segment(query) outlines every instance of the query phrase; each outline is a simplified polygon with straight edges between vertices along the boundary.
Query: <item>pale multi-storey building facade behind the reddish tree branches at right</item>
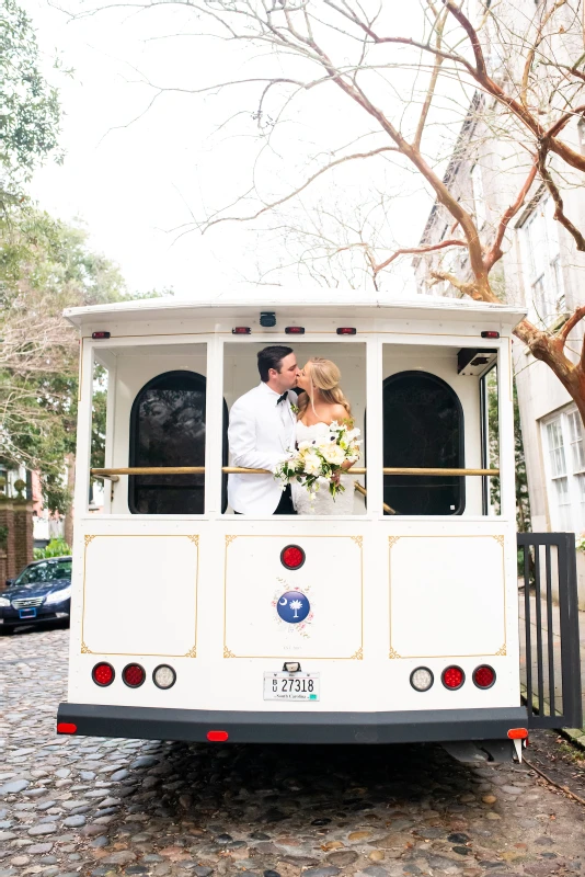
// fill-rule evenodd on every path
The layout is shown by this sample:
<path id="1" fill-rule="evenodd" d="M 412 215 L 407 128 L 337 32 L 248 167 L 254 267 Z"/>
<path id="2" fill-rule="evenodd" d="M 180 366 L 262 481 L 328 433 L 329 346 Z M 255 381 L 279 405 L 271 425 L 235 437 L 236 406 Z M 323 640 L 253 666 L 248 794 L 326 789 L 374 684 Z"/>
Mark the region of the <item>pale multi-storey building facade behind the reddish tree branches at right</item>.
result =
<path id="1" fill-rule="evenodd" d="M 498 4 L 511 16 L 535 14 L 532 0 Z M 509 7 L 509 10 L 508 10 Z M 583 50 L 583 43 L 582 49 Z M 497 64 L 498 53 L 490 57 Z M 495 59 L 495 61 L 494 61 Z M 497 75 L 497 70 L 492 72 Z M 505 73 L 502 75 L 503 77 Z M 474 214 L 482 242 L 490 244 L 500 218 L 514 203 L 529 170 L 530 155 L 519 139 L 492 134 L 485 118 L 502 111 L 477 93 L 456 144 L 445 181 L 461 203 Z M 491 128 L 491 129 L 490 129 Z M 571 122 L 563 138 L 585 153 L 583 121 Z M 560 170 L 559 166 L 552 164 Z M 564 168 L 561 179 L 564 213 L 578 229 L 585 228 L 582 175 Z M 437 243 L 452 235 L 452 218 L 436 204 L 421 246 Z M 576 307 L 585 304 L 585 253 L 554 219 L 554 203 L 540 180 L 535 182 L 525 207 L 514 217 L 504 239 L 504 257 L 490 280 L 493 291 L 508 304 L 524 305 L 528 319 L 554 333 Z M 417 257 L 414 269 L 421 293 L 460 297 L 447 282 L 437 283 L 432 272 L 452 271 L 469 276 L 467 250 L 457 248 Z M 565 354 L 574 362 L 581 355 L 585 324 L 571 332 Z M 535 532 L 585 532 L 585 429 L 577 408 L 552 371 L 535 360 L 527 348 L 514 341 L 514 365 L 523 426 L 524 451 Z M 585 608 L 585 554 L 577 550 L 580 604 Z"/>

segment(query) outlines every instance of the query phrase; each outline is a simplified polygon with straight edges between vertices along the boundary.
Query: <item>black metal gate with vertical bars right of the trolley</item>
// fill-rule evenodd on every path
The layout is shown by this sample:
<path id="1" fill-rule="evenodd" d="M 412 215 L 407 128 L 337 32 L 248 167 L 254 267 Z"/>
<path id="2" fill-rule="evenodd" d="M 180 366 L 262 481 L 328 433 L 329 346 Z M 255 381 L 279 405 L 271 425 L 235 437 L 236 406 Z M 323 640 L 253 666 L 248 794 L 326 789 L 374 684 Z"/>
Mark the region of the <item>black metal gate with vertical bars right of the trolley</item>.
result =
<path id="1" fill-rule="evenodd" d="M 573 533 L 518 533 L 520 681 L 530 728 L 581 728 L 583 705 Z M 524 593 L 523 593 L 524 591 Z"/>

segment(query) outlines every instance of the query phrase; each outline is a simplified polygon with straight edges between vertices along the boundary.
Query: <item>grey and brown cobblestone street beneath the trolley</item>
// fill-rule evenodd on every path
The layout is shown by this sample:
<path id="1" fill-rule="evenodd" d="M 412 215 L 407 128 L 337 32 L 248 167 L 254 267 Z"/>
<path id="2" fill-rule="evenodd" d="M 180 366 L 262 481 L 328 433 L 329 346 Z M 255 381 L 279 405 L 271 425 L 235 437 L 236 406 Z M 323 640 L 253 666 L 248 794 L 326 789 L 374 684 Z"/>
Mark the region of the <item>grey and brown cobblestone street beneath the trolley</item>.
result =
<path id="1" fill-rule="evenodd" d="M 0 638 L 0 877 L 585 873 L 585 808 L 527 765 L 57 738 L 67 645 Z"/>

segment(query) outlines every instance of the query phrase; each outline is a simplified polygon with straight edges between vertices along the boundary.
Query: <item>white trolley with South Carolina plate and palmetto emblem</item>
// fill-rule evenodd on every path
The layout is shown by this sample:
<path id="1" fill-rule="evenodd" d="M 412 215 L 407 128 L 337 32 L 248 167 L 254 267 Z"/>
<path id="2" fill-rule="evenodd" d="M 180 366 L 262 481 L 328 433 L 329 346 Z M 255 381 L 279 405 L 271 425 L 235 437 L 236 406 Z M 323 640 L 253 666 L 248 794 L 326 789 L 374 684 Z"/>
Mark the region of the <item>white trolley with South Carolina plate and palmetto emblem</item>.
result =
<path id="1" fill-rule="evenodd" d="M 262 293 L 66 311 L 81 361 L 58 732 L 441 741 L 460 755 L 481 741 L 473 758 L 512 756 L 539 714 L 536 682 L 527 707 L 519 680 L 511 352 L 524 314 Z M 320 355 L 341 368 L 365 437 L 351 515 L 252 517 L 227 505 L 229 408 L 259 383 L 256 353 L 273 343 L 299 364 Z M 105 460 L 92 468 L 93 395 L 105 385 Z M 105 485 L 103 513 L 89 503 L 92 477 Z M 278 611 L 290 592 L 303 603 L 294 623 Z M 559 680 L 544 673 L 540 640 L 548 704 Z M 554 727 L 578 714 L 569 647 L 563 661 Z"/>

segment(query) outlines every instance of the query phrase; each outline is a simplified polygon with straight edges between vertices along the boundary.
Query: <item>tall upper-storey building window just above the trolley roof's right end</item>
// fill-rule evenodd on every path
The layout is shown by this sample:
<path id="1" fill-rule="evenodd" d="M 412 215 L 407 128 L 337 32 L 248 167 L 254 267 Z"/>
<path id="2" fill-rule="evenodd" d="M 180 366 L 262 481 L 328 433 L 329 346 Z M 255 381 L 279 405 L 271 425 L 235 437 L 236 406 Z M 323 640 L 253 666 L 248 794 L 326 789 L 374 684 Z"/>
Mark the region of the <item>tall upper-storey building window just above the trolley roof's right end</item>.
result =
<path id="1" fill-rule="evenodd" d="M 520 228 L 523 271 L 531 319 L 549 326 L 565 308 L 554 204 L 542 197 Z"/>

